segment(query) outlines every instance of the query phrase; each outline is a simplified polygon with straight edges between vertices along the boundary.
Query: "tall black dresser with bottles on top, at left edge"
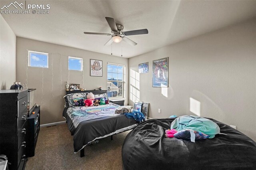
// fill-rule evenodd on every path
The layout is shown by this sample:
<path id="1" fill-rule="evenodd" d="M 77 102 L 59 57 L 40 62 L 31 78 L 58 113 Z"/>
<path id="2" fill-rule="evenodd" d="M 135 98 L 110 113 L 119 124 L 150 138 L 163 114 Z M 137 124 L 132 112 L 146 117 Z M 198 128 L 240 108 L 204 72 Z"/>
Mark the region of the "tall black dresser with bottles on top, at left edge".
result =
<path id="1" fill-rule="evenodd" d="M 25 169 L 28 90 L 0 90 L 0 154 L 9 170 Z"/>

